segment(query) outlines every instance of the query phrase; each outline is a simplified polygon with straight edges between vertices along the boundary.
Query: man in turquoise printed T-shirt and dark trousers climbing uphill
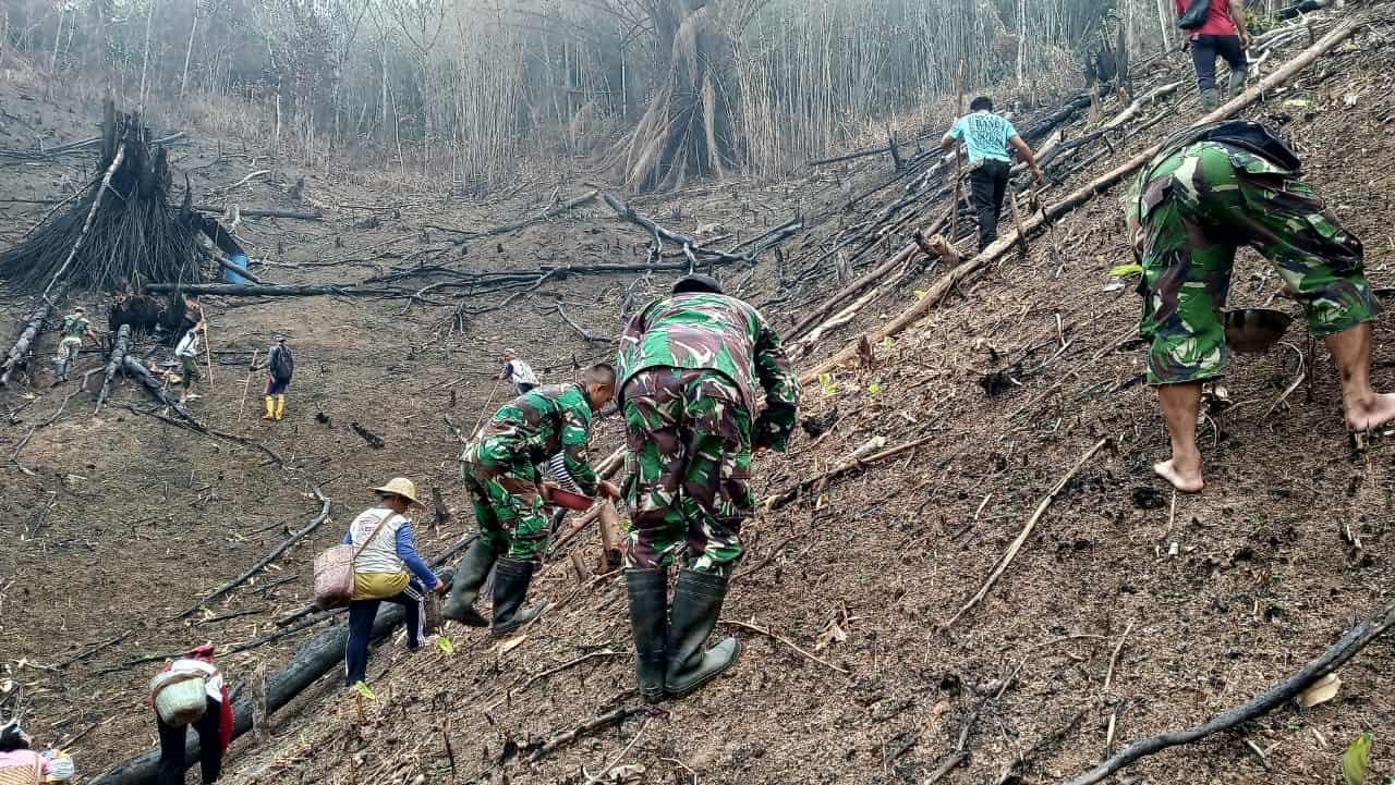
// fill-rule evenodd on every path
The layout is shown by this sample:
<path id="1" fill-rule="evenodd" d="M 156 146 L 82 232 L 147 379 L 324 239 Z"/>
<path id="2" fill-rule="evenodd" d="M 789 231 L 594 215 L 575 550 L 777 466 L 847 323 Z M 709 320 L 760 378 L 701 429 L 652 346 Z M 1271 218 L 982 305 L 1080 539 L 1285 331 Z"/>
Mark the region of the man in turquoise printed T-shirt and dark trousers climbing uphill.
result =
<path id="1" fill-rule="evenodd" d="M 981 95 L 970 103 L 970 110 L 954 121 L 940 146 L 951 151 L 963 141 L 968 148 L 968 187 L 978 212 L 978 250 L 982 251 L 997 240 L 997 216 L 1003 211 L 1007 176 L 1013 169 L 1007 146 L 1011 145 L 1017 156 L 1027 162 L 1036 183 L 1042 181 L 1042 170 L 1036 166 L 1032 148 L 1017 135 L 1017 128 L 1006 117 L 993 114 L 993 99 Z"/>

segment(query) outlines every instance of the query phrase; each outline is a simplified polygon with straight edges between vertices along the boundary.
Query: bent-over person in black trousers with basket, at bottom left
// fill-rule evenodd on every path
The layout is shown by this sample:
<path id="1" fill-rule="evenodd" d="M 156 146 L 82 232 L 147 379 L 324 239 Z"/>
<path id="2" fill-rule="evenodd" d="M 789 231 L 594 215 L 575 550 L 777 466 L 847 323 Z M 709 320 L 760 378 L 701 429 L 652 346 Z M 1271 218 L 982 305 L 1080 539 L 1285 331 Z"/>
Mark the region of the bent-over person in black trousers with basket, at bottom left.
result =
<path id="1" fill-rule="evenodd" d="M 152 687 L 158 690 L 162 682 L 183 679 L 193 679 L 202 685 L 205 703 L 195 719 L 187 724 L 176 724 L 167 721 L 160 714 L 160 701 L 155 699 L 152 692 L 155 725 L 160 739 L 160 763 L 156 784 L 183 785 L 184 742 L 188 736 L 188 729 L 193 728 L 198 733 L 198 764 L 204 777 L 204 785 L 209 785 L 211 782 L 216 782 L 222 774 L 223 756 L 227 753 L 227 745 L 233 740 L 233 704 L 227 697 L 227 683 L 223 679 L 223 673 L 213 664 L 212 646 L 191 648 L 179 660 L 167 662 L 160 675 L 152 682 Z"/>

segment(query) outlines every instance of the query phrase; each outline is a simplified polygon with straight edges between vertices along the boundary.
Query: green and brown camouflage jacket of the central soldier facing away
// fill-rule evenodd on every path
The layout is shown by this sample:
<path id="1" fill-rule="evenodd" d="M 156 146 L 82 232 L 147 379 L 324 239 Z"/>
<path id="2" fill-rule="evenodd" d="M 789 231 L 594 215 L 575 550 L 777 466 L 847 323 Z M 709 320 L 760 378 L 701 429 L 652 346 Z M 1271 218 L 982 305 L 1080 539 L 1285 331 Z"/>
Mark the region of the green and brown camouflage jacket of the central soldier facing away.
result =
<path id="1" fill-rule="evenodd" d="M 636 314 L 619 339 L 621 397 L 631 376 L 658 367 L 717 371 L 735 382 L 752 413 L 759 385 L 766 410 L 756 418 L 752 439 L 776 450 L 788 443 L 799 376 L 790 369 L 780 336 L 746 303 L 724 294 L 675 294 Z"/>

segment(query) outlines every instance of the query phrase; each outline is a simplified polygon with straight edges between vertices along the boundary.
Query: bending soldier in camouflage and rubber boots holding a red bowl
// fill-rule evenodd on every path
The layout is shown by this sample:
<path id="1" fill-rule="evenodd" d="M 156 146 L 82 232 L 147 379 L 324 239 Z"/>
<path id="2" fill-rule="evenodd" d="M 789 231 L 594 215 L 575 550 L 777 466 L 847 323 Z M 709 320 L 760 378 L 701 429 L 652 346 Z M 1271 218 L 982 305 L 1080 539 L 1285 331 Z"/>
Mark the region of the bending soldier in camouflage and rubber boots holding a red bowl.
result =
<path id="1" fill-rule="evenodd" d="M 516 630 L 545 608 L 520 609 L 548 533 L 543 502 L 550 488 L 543 484 L 538 466 L 561 453 L 582 494 L 590 496 L 600 489 L 618 498 L 619 489 L 600 481 L 586 460 L 591 418 L 614 395 L 615 369 L 594 365 L 579 383 L 534 388 L 504 404 L 466 445 L 460 453 L 460 478 L 470 491 L 480 535 L 456 565 L 442 616 L 485 626 L 472 604 L 495 563 L 495 634 Z"/>

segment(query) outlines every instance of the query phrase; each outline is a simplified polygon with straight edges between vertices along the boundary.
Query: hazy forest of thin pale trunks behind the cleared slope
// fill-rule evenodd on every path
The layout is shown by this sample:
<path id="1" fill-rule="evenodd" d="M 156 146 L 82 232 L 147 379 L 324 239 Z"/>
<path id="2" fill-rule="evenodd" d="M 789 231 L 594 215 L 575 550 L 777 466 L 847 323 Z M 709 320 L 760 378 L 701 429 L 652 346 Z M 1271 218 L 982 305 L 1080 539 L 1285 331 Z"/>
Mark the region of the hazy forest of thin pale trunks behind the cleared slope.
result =
<path id="1" fill-rule="evenodd" d="M 1048 100 L 1106 40 L 1176 45 L 1170 4 L 0 0 L 0 68 L 326 170 L 478 192 L 561 160 L 654 188 L 904 139 L 960 74 Z"/>

